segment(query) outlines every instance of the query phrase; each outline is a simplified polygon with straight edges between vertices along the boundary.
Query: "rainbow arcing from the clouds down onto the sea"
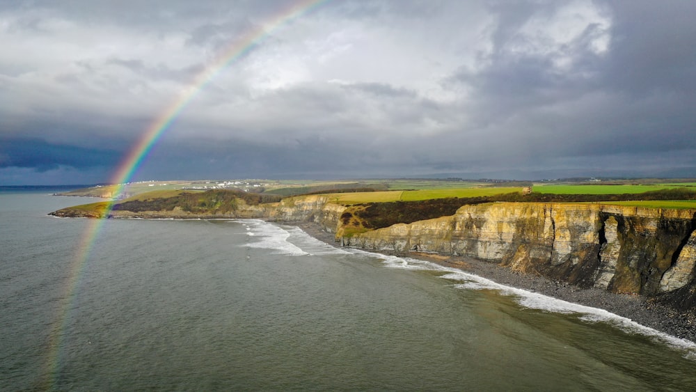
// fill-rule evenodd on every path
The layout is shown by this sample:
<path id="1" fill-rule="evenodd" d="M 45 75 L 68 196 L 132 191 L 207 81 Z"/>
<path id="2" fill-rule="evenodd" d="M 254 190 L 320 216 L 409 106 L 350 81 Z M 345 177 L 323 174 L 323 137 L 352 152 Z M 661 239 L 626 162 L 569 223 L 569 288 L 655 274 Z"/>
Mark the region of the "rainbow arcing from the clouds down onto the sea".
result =
<path id="1" fill-rule="evenodd" d="M 157 143 L 166 130 L 171 127 L 182 111 L 191 103 L 193 98 L 195 98 L 212 79 L 225 70 L 228 65 L 242 58 L 255 47 L 258 47 L 265 38 L 280 27 L 292 22 L 294 19 L 307 15 L 311 11 L 319 8 L 319 6 L 329 3 L 330 1 L 331 0 L 296 1 L 279 13 L 276 13 L 276 16 L 269 18 L 266 23 L 256 29 L 248 31 L 242 38 L 233 42 L 232 45 L 223 51 L 221 55 L 216 57 L 205 70 L 193 78 L 189 87 L 185 88 L 177 99 L 173 100 L 169 107 L 167 107 L 167 109 L 143 132 L 139 141 L 136 142 L 134 147 L 122 160 L 111 178 L 111 183 L 116 184 L 115 191 L 113 192 L 113 200 L 106 204 L 106 208 L 102 214 L 103 218 L 90 219 L 77 246 L 75 256 L 70 263 L 70 273 L 68 274 L 68 281 L 65 284 L 65 294 L 62 296 L 63 302 L 58 306 L 56 322 L 49 336 L 45 389 L 54 388 L 58 381 L 58 375 L 61 370 L 61 359 L 65 354 L 63 352 L 63 350 L 65 350 L 65 347 L 63 347 L 64 338 L 68 334 L 67 329 L 71 318 L 70 313 L 72 309 L 77 306 L 81 277 L 84 274 L 87 260 L 104 226 L 106 217 L 109 216 L 109 213 L 113 209 L 113 205 L 116 203 L 116 196 L 122 193 L 127 182 L 129 182 L 134 173 L 143 164 L 150 150 L 155 146 L 155 143 Z"/>

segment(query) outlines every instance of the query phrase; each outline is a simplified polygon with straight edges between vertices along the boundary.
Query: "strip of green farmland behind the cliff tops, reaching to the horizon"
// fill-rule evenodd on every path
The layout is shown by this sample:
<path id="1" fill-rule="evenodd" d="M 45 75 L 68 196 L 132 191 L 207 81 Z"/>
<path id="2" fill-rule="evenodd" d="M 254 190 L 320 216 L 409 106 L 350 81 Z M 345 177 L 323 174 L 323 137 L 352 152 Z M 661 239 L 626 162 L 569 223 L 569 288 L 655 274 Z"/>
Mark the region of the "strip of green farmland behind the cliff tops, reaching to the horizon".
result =
<path id="1" fill-rule="evenodd" d="M 688 181 L 688 182 L 687 182 Z M 345 205 L 365 203 L 415 202 L 443 198 L 485 198 L 488 201 L 593 202 L 635 205 L 655 208 L 694 208 L 696 201 L 688 200 L 696 192 L 696 182 L 667 180 L 624 180 L 600 182 L 537 182 L 531 195 L 523 196 L 524 182 L 466 181 L 458 179 L 383 179 L 383 180 L 237 180 L 229 182 L 249 185 L 248 191 L 280 197 L 301 194 L 328 194 L 331 201 Z M 224 183 L 225 188 L 228 183 Z M 131 199 L 145 201 L 177 196 L 182 189 L 203 191 L 220 189 L 217 181 L 136 182 L 125 187 Z M 236 185 L 235 185 L 236 186 Z M 115 185 L 68 192 L 76 196 L 96 196 L 102 192 L 111 196 Z M 239 186 L 237 189 L 242 189 Z M 370 191 L 372 190 L 372 191 Z M 644 193 L 648 192 L 648 193 Z M 656 195 L 655 193 L 659 193 Z M 500 196 L 505 195 L 507 196 Z M 673 196 L 672 196 L 673 195 Z M 122 195 L 123 196 L 123 195 Z M 606 196 L 606 198 L 604 197 Z M 685 200 L 686 199 L 686 200 Z M 478 201 L 480 202 L 480 200 Z"/>

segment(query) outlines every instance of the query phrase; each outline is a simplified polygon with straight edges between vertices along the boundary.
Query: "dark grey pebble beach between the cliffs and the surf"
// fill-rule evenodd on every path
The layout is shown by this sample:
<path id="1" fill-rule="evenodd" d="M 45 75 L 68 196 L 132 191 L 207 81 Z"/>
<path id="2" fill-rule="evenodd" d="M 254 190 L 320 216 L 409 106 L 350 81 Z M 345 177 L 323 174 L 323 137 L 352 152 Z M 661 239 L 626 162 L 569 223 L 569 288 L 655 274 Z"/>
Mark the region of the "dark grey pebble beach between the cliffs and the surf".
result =
<path id="1" fill-rule="evenodd" d="M 331 246 L 338 246 L 333 233 L 328 233 L 313 222 L 291 224 L 308 235 Z M 490 279 L 513 288 L 537 292 L 555 299 L 599 308 L 615 315 L 626 317 L 644 327 L 696 343 L 696 312 L 677 311 L 656 301 L 639 295 L 615 294 L 599 288 L 580 288 L 562 281 L 553 281 L 543 276 L 521 274 L 493 262 L 461 256 L 441 256 L 416 252 L 372 251 L 389 256 L 425 260 L 445 267 Z"/>

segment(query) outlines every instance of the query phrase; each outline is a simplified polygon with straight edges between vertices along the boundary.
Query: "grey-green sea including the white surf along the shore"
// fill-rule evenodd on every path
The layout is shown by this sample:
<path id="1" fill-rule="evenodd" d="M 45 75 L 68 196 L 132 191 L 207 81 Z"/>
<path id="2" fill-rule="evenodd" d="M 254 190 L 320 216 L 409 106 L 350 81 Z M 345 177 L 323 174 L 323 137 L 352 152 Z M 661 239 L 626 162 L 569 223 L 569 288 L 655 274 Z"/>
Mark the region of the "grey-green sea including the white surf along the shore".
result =
<path id="1" fill-rule="evenodd" d="M 93 201 L 0 192 L 1 391 L 696 389 L 686 340 L 294 226 L 114 219 L 75 267 L 47 213 Z"/>

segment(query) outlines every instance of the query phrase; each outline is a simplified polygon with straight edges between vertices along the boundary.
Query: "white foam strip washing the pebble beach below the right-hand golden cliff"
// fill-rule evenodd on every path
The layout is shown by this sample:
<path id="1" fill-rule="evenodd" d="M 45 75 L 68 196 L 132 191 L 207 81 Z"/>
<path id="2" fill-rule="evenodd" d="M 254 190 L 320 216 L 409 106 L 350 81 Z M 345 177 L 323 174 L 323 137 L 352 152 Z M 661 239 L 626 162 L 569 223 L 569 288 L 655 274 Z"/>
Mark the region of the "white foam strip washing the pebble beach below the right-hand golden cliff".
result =
<path id="1" fill-rule="evenodd" d="M 460 269 L 445 267 L 442 265 L 428 262 L 425 260 L 416 260 L 412 258 L 400 258 L 397 256 L 385 256 L 380 253 L 371 253 L 355 250 L 355 253 L 363 253 L 376 258 L 381 258 L 386 267 L 416 269 L 428 271 L 440 271 L 445 274 L 440 277 L 451 281 L 459 281 L 454 285 L 455 288 L 466 290 L 497 290 L 502 295 L 510 295 L 514 300 L 525 308 L 539 309 L 554 313 L 577 314 L 580 320 L 586 322 L 605 322 L 622 331 L 632 334 L 642 334 L 658 340 L 659 342 L 674 347 L 677 350 L 684 352 L 684 356 L 688 359 L 696 361 L 696 343 L 680 339 L 675 336 L 664 334 L 656 329 L 645 327 L 631 319 L 610 313 L 600 308 L 592 308 L 572 302 L 563 301 L 549 297 L 548 295 L 539 294 L 538 292 L 530 292 L 519 288 L 502 285 L 474 274 L 468 274 Z"/>

